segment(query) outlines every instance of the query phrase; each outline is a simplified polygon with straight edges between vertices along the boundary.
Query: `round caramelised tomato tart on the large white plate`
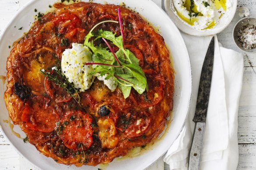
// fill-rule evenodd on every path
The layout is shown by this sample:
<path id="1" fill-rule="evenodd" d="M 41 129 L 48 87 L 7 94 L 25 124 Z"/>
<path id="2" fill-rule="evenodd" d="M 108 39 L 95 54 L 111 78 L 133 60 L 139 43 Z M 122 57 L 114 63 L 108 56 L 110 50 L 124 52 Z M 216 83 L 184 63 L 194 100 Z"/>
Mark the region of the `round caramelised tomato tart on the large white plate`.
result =
<path id="1" fill-rule="evenodd" d="M 78 167 L 109 163 L 156 139 L 173 108 L 174 72 L 164 38 L 139 14 L 124 7 L 85 2 L 54 6 L 55 11 L 35 21 L 14 44 L 8 57 L 4 99 L 14 124 L 39 152 L 57 163 Z M 83 44 L 99 22 L 118 21 L 117 8 L 124 48 L 138 59 L 148 89 L 142 94 L 131 89 L 124 97 L 120 88 L 110 90 L 96 79 L 83 92 L 72 92 L 68 83 L 56 83 L 63 75 L 55 75 L 52 68 L 60 63 L 64 50 L 71 49 L 72 43 Z M 119 23 L 100 24 L 93 32 L 100 29 L 121 36 Z M 101 39 L 94 43 L 107 48 Z M 40 70 L 58 80 L 54 82 Z"/>

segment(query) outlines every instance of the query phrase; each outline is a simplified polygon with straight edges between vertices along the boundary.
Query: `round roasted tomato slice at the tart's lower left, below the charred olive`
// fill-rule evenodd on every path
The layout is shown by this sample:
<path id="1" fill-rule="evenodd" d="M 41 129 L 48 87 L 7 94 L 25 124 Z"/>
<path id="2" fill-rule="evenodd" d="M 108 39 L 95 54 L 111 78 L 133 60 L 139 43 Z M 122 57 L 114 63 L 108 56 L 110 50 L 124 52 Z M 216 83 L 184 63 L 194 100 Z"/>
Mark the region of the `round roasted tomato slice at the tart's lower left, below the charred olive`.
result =
<path id="1" fill-rule="evenodd" d="M 36 96 L 25 104 L 21 120 L 28 128 L 39 132 L 52 132 L 59 121 L 59 114 L 49 106 L 50 99 L 43 96 Z"/>

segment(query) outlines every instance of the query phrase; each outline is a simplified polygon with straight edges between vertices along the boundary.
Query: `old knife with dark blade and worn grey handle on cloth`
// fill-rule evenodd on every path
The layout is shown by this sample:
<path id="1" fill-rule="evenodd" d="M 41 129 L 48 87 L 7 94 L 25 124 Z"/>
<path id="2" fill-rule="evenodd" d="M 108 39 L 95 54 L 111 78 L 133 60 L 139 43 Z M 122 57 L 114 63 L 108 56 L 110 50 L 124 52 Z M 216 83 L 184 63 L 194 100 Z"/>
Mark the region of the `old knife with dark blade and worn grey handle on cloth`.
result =
<path id="1" fill-rule="evenodd" d="M 188 157 L 188 170 L 199 170 L 206 114 L 210 97 L 213 73 L 214 37 L 212 38 L 203 62 L 193 121 L 196 123 Z"/>

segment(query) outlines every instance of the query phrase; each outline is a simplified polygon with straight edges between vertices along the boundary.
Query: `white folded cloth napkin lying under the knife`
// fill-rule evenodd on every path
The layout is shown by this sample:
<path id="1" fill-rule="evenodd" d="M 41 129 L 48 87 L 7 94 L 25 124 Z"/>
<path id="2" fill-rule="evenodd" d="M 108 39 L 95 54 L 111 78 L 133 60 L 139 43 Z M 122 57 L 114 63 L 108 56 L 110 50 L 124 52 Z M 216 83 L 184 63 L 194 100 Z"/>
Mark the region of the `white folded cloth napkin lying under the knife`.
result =
<path id="1" fill-rule="evenodd" d="M 195 123 L 192 121 L 203 61 L 212 36 L 182 33 L 192 67 L 192 101 L 180 135 L 164 156 L 171 170 L 187 170 Z M 238 164 L 238 102 L 242 90 L 243 56 L 219 45 L 215 36 L 213 77 L 200 170 L 235 170 Z"/>

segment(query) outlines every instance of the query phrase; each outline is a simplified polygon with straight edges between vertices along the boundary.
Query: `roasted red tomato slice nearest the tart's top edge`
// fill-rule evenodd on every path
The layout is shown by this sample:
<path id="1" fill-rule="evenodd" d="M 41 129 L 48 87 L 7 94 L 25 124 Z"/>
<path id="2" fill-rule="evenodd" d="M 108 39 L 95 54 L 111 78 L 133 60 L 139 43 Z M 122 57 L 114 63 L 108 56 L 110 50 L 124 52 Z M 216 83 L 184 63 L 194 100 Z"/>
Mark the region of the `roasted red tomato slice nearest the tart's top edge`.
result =
<path id="1" fill-rule="evenodd" d="M 58 27 L 59 33 L 64 34 L 80 26 L 82 21 L 75 14 L 67 12 L 53 18 L 52 22 Z"/>

